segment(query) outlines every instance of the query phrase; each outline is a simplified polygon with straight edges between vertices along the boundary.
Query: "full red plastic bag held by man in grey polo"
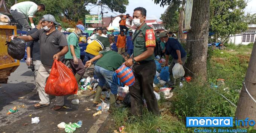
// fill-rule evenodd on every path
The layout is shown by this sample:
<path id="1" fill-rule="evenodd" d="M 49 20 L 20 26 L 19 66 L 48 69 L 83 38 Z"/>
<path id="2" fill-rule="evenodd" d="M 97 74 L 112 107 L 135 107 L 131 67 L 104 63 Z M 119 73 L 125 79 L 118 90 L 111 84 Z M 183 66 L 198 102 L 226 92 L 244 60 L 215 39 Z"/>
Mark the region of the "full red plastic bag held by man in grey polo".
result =
<path id="1" fill-rule="evenodd" d="M 46 94 L 53 96 L 77 94 L 78 83 L 74 74 L 65 64 L 54 60 L 44 90 Z"/>

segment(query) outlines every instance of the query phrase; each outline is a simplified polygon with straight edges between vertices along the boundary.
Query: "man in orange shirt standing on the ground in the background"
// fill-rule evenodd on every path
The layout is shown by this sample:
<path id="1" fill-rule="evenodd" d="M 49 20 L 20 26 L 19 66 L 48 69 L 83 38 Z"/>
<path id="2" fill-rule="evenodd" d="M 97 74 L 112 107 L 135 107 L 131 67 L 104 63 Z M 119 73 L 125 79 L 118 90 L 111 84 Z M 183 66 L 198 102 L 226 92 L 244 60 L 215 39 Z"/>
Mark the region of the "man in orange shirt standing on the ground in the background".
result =
<path id="1" fill-rule="evenodd" d="M 120 30 L 120 34 L 117 37 L 116 47 L 118 54 L 125 52 L 126 36 L 124 35 L 124 32 L 124 30 Z"/>

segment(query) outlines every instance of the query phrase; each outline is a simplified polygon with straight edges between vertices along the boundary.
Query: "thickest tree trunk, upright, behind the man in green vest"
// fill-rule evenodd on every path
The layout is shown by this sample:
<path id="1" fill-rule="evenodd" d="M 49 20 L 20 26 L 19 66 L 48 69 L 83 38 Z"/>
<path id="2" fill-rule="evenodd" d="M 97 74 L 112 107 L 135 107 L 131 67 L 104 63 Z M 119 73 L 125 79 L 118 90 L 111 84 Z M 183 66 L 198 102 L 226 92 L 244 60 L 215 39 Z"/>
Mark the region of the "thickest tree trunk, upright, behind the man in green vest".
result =
<path id="1" fill-rule="evenodd" d="M 206 80 L 207 43 L 209 35 L 209 0 L 194 0 L 191 18 L 191 29 L 187 33 L 186 67 Z M 186 69 L 185 69 L 186 70 Z M 187 71 L 187 75 L 194 76 Z"/>

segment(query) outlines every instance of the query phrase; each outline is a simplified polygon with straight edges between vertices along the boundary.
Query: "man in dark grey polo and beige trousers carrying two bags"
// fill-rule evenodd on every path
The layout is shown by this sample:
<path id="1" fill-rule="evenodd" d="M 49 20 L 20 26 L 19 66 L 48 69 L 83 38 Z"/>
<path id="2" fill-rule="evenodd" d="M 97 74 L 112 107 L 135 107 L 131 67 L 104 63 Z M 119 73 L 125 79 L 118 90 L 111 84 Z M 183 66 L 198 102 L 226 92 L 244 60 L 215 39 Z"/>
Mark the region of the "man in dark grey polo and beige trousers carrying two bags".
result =
<path id="1" fill-rule="evenodd" d="M 53 61 L 64 61 L 63 55 L 69 51 L 66 36 L 55 28 L 55 25 L 58 25 L 59 23 L 55 21 L 54 16 L 50 14 L 44 15 L 42 21 L 43 29 L 30 34 L 29 36 L 14 36 L 24 39 L 26 42 L 40 40 L 40 58 L 42 64 L 38 69 L 36 78 L 40 102 L 34 105 L 35 108 L 42 108 L 50 105 L 49 95 L 44 91 L 47 78 L 50 75 Z M 57 111 L 61 109 L 63 105 L 64 96 L 56 96 L 56 105 L 53 106 L 52 110 Z"/>

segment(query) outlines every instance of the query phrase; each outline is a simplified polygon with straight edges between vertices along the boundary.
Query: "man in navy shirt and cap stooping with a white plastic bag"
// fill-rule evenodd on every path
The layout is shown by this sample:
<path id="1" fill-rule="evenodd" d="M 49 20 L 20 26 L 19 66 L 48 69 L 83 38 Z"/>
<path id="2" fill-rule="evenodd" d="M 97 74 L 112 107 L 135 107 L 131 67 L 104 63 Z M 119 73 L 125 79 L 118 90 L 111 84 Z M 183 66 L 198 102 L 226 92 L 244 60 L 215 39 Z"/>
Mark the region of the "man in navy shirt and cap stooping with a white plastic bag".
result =
<path id="1" fill-rule="evenodd" d="M 175 38 L 169 38 L 166 32 L 162 32 L 159 34 L 159 38 L 161 42 L 166 43 L 165 46 L 165 63 L 168 66 L 169 63 L 169 55 L 173 57 L 172 62 L 170 63 L 169 72 L 170 72 L 170 79 L 172 83 L 175 82 L 175 86 L 180 86 L 180 78 L 174 79 L 172 76 L 172 68 L 174 67 L 175 63 L 180 63 L 182 66 L 185 64 L 187 60 L 187 53 L 185 49 L 181 46 L 180 42 L 178 42 Z"/>

